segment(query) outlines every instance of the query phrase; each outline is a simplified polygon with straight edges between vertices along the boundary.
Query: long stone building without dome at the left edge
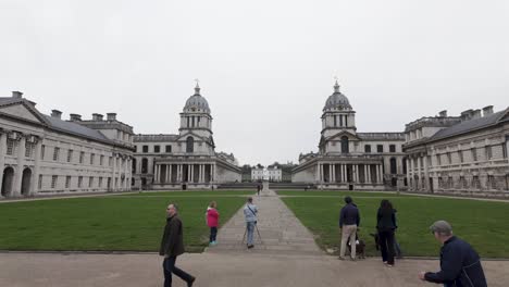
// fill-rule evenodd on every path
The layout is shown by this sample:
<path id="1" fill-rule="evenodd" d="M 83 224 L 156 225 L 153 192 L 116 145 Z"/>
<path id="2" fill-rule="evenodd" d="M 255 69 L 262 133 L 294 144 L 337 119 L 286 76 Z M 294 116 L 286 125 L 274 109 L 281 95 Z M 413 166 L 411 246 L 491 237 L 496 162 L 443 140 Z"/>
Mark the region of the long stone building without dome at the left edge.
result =
<path id="1" fill-rule="evenodd" d="M 133 127 L 115 113 L 61 117 L 18 91 L 0 98 L 1 197 L 129 190 Z"/>

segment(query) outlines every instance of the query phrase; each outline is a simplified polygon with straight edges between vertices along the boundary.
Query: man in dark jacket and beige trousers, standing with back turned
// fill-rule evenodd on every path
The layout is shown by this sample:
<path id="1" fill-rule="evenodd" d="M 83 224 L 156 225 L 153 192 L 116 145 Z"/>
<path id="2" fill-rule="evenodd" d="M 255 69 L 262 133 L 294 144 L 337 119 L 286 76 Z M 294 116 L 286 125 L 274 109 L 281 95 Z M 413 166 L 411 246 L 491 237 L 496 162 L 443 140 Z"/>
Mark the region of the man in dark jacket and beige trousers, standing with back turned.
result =
<path id="1" fill-rule="evenodd" d="M 345 207 L 339 213 L 339 228 L 342 229 L 342 247 L 339 249 L 339 259 L 345 260 L 347 240 L 350 240 L 350 258 L 356 260 L 356 235 L 360 224 L 359 209 L 353 204 L 350 197 L 345 197 Z"/>

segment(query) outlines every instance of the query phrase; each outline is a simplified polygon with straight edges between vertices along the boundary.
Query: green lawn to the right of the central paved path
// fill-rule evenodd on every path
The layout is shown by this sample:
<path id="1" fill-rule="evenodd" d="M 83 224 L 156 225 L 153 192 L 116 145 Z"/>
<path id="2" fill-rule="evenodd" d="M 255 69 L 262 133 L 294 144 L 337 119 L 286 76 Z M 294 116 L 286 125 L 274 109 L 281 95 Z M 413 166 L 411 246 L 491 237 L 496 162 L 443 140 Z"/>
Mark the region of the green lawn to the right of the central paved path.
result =
<path id="1" fill-rule="evenodd" d="M 377 254 L 370 233 L 375 230 L 382 198 L 397 209 L 396 237 L 406 255 L 438 255 L 440 244 L 429 230 L 436 220 L 451 223 L 454 232 L 469 241 L 482 257 L 509 258 L 509 203 L 479 200 L 398 196 L 363 191 L 281 191 L 283 201 L 316 235 L 322 248 L 338 248 L 338 216 L 343 198 L 350 195 L 361 212 L 360 237 L 367 254 Z M 294 197 L 291 197 L 294 196 Z M 298 196 L 298 197 L 297 197 Z"/>

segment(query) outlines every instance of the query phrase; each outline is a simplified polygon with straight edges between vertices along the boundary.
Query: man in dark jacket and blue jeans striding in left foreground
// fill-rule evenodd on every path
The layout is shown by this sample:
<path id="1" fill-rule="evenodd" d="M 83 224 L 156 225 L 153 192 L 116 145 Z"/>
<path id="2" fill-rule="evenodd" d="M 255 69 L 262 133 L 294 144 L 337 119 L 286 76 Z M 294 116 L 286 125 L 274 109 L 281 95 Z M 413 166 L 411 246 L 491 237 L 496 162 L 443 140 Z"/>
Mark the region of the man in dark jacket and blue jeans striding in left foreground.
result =
<path id="1" fill-rule="evenodd" d="M 164 287 L 172 286 L 172 273 L 187 282 L 187 286 L 193 286 L 195 277 L 175 266 L 176 258 L 184 253 L 184 236 L 182 221 L 178 217 L 178 208 L 171 203 L 166 208 L 166 226 L 164 227 L 163 238 L 159 254 L 164 257 Z"/>

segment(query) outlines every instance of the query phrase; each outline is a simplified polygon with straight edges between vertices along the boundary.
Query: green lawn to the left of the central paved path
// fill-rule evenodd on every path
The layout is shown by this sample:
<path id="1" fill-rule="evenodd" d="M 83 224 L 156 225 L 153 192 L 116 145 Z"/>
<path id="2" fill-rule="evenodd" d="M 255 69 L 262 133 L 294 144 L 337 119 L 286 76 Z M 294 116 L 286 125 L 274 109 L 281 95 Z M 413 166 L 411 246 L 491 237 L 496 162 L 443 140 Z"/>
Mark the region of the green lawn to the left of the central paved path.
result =
<path id="1" fill-rule="evenodd" d="M 252 192 L 144 192 L 0 204 L 0 250 L 157 251 L 169 202 L 179 207 L 187 251 L 208 244 L 204 212 L 218 202 L 225 223 Z M 238 195 L 234 197 L 233 195 Z"/>

